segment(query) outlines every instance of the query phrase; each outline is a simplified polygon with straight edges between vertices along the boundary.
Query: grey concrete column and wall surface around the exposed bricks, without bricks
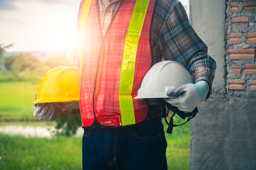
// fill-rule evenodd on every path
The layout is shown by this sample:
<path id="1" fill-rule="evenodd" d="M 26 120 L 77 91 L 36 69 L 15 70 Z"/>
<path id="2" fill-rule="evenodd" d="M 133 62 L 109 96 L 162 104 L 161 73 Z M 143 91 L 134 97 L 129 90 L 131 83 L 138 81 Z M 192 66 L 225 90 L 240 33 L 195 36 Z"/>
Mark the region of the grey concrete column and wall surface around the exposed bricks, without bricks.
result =
<path id="1" fill-rule="evenodd" d="M 227 11 L 226 3 L 229 4 Z M 242 11 L 240 6 L 242 2 L 239 3 L 238 10 Z M 226 18 L 225 13 L 229 11 L 230 1 L 190 1 L 191 25 L 208 45 L 209 55 L 217 62 L 213 82 L 213 89 L 216 93 L 198 106 L 199 113 L 191 120 L 191 170 L 256 169 L 256 98 L 252 95 L 255 93 L 242 92 L 245 95 L 240 96 L 238 92 L 241 91 L 236 91 L 235 94 L 239 95 L 225 94 L 225 79 L 228 78 L 226 75 L 228 61 L 225 58 L 228 52 L 225 52 L 227 45 L 224 40 L 225 30 L 228 30 L 228 24 L 232 20 L 232 17 Z M 236 14 L 232 15 L 236 16 Z M 256 15 L 255 13 L 250 13 L 250 15 L 250 23 L 255 26 Z M 252 15 L 255 16 L 252 17 Z M 247 47 L 248 45 L 240 46 Z M 235 60 L 235 63 L 237 62 Z M 255 60 L 249 62 L 251 64 Z M 252 79 L 255 79 L 255 74 L 252 74 Z"/>

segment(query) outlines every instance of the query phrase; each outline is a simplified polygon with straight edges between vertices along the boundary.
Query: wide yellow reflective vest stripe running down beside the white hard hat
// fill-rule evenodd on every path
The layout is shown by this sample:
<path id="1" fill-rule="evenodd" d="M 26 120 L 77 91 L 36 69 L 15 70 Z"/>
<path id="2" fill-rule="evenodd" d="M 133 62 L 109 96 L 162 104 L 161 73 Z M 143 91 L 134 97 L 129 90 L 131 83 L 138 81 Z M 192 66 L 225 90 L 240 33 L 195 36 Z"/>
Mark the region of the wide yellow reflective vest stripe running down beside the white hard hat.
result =
<path id="1" fill-rule="evenodd" d="M 134 68 L 139 37 L 142 33 L 142 26 L 148 6 L 149 0 L 136 1 L 127 31 L 127 37 L 125 38 L 119 85 L 119 104 L 123 126 L 135 124 L 134 106 L 132 101 Z"/>

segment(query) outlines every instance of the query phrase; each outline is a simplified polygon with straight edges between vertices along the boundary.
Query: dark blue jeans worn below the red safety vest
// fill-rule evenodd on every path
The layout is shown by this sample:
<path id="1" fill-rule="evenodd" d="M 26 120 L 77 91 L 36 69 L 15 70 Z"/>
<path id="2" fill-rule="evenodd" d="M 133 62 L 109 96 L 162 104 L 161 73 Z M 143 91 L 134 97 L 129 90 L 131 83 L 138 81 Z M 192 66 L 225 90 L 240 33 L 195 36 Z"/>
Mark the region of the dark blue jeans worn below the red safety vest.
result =
<path id="1" fill-rule="evenodd" d="M 167 169 L 161 118 L 129 128 L 85 128 L 82 169 Z"/>

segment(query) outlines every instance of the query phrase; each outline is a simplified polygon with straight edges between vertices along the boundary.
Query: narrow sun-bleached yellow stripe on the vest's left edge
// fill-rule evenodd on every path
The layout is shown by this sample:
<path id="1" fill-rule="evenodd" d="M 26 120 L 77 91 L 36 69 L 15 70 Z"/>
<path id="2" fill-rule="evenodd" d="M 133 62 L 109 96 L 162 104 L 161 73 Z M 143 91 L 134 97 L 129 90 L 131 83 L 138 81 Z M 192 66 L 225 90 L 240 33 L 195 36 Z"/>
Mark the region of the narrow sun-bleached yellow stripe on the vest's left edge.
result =
<path id="1" fill-rule="evenodd" d="M 80 74 L 82 73 L 82 51 L 83 51 L 83 45 L 85 44 L 85 24 L 87 21 L 90 4 L 92 3 L 92 0 L 85 1 L 85 4 L 82 8 L 82 16 L 80 21 Z"/>

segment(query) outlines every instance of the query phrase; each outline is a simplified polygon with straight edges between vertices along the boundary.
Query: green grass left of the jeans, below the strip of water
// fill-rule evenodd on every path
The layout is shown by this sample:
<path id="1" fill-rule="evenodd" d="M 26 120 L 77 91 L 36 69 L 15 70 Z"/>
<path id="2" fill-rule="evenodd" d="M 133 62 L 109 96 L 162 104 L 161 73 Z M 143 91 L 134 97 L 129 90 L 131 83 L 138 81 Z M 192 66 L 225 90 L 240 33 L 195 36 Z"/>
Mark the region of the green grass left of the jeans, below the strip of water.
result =
<path id="1" fill-rule="evenodd" d="M 0 169 L 82 169 L 82 137 L 0 134 Z"/>

